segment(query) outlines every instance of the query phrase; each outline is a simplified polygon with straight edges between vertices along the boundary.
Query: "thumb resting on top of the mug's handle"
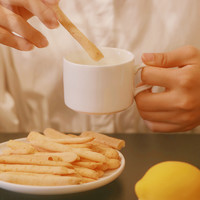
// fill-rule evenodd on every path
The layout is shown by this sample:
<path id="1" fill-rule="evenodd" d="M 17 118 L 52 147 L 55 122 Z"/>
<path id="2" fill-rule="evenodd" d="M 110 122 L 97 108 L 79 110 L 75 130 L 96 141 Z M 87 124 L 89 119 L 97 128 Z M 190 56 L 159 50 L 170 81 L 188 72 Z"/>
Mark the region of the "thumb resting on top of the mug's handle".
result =
<path id="1" fill-rule="evenodd" d="M 200 58 L 200 52 L 193 46 L 184 46 L 170 52 L 144 53 L 142 61 L 156 67 L 177 67 L 194 64 Z"/>

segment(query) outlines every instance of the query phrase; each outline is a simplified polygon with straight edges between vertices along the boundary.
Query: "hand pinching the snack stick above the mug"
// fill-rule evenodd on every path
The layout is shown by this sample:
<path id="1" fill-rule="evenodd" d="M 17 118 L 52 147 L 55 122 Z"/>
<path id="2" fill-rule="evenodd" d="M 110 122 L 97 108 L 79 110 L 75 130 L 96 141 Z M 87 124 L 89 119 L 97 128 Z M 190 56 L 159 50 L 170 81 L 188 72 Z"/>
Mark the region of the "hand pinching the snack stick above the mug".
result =
<path id="1" fill-rule="evenodd" d="M 45 36 L 27 20 L 37 16 L 48 28 L 56 28 L 56 14 L 49 6 L 57 3 L 58 0 L 0 0 L 0 43 L 22 51 L 46 47 Z"/>

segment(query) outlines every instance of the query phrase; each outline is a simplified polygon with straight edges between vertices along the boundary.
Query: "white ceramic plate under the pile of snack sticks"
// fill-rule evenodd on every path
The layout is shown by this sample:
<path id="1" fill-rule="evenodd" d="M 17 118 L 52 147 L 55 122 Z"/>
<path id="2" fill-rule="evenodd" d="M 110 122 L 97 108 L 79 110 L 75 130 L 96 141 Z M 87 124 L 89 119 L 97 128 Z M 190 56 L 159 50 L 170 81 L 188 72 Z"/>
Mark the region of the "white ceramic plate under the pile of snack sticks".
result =
<path id="1" fill-rule="evenodd" d="M 24 141 L 24 138 L 19 140 Z M 6 142 L 0 144 L 0 154 L 3 149 L 6 148 Z M 4 181 L 0 181 L 0 188 L 25 193 L 25 194 L 70 194 L 70 193 L 78 193 L 83 191 L 92 190 L 95 188 L 99 188 L 104 186 L 112 181 L 114 181 L 123 171 L 125 166 L 124 156 L 119 152 L 121 157 L 121 166 L 115 170 L 109 170 L 104 173 L 104 176 L 98 179 L 97 181 L 91 183 L 84 183 L 81 185 L 67 185 L 67 186 L 28 186 L 28 185 L 19 185 L 14 183 L 8 183 Z"/>

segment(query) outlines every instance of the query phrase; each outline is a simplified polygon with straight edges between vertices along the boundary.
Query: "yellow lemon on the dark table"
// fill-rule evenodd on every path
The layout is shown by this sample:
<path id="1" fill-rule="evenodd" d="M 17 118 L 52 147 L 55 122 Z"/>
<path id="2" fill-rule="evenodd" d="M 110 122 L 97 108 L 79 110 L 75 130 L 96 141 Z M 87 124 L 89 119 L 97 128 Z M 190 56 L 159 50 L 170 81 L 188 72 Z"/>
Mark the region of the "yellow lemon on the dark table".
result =
<path id="1" fill-rule="evenodd" d="M 151 167 L 135 185 L 139 200 L 200 200 L 200 170 L 166 161 Z"/>

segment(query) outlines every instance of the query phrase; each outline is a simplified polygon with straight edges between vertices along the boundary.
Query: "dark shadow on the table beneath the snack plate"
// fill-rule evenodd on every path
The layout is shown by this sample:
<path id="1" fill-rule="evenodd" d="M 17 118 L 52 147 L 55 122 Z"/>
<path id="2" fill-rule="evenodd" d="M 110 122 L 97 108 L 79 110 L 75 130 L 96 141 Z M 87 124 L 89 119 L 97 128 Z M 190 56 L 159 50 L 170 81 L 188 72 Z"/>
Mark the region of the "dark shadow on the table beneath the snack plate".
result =
<path id="1" fill-rule="evenodd" d="M 123 199 L 122 188 L 120 180 L 115 180 L 112 183 L 91 191 L 64 194 L 64 195 L 31 195 L 10 192 L 0 189 L 0 200 L 117 200 Z"/>

